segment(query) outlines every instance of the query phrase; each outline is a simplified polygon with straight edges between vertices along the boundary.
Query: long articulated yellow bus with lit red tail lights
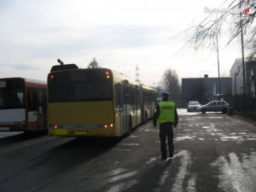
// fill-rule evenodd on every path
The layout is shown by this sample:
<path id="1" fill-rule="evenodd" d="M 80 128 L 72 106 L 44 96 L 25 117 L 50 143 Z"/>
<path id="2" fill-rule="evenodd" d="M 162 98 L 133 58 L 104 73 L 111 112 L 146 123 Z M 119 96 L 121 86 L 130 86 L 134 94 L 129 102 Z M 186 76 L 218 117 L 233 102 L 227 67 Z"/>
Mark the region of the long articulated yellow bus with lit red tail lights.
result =
<path id="1" fill-rule="evenodd" d="M 120 137 L 153 116 L 155 90 L 108 68 L 54 66 L 48 75 L 49 136 Z"/>

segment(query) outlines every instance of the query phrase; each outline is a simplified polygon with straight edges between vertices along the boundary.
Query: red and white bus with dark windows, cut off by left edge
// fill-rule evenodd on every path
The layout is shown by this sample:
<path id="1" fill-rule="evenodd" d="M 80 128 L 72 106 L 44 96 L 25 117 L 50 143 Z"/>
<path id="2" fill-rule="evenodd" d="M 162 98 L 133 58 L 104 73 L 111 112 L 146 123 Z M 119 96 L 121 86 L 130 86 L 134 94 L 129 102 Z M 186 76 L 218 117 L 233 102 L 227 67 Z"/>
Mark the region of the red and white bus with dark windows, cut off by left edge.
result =
<path id="1" fill-rule="evenodd" d="M 0 131 L 47 129 L 46 88 L 34 79 L 0 79 Z"/>

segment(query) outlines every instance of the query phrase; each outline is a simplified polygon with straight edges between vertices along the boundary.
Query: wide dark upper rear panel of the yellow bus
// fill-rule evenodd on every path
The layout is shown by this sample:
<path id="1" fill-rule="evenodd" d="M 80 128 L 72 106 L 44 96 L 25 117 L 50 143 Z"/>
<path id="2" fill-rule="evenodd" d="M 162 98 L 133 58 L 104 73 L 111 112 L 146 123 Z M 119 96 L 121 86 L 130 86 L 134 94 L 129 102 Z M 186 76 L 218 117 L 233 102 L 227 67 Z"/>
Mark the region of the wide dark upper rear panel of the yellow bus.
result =
<path id="1" fill-rule="evenodd" d="M 112 100 L 112 78 L 110 77 L 107 78 L 106 69 L 50 73 L 49 102 Z"/>

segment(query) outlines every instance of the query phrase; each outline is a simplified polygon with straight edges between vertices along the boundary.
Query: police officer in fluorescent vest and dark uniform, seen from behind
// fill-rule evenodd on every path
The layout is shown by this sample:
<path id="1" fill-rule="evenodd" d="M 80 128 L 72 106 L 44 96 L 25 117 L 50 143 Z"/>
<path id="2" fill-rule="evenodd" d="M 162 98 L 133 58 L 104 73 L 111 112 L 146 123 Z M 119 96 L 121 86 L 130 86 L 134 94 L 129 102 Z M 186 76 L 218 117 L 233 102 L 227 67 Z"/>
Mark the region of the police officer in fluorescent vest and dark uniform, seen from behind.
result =
<path id="1" fill-rule="evenodd" d="M 177 109 L 174 102 L 168 101 L 170 93 L 163 92 L 161 94 L 162 101 L 156 106 L 156 112 L 154 113 L 153 124 L 156 127 L 156 123 L 160 124 L 160 143 L 161 143 L 161 158 L 166 160 L 166 137 L 168 138 L 169 157 L 173 157 L 173 130 L 172 127 L 176 127 L 178 123 Z"/>

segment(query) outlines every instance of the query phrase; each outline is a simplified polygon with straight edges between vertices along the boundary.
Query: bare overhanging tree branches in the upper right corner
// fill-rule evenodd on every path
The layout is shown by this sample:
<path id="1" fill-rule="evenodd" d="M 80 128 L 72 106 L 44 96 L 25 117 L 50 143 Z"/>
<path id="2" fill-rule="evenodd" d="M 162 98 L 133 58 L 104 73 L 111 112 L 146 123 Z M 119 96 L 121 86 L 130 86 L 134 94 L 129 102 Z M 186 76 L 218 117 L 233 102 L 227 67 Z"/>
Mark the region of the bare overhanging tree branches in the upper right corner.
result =
<path id="1" fill-rule="evenodd" d="M 228 3 L 228 5 L 227 5 Z M 224 8 L 224 6 L 227 6 Z M 225 0 L 218 9 L 207 9 L 207 17 L 198 25 L 187 29 L 183 34 L 189 35 L 186 46 L 192 46 L 194 49 L 204 47 L 214 47 L 215 40 L 223 33 L 230 32 L 230 38 L 227 41 L 229 45 L 235 38 L 241 34 L 241 30 L 246 35 L 245 48 L 249 55 L 256 54 L 256 26 L 253 23 L 256 14 L 256 2 L 254 0 Z M 212 17 L 216 16 L 214 20 Z M 228 24 L 227 27 L 225 24 Z"/>

